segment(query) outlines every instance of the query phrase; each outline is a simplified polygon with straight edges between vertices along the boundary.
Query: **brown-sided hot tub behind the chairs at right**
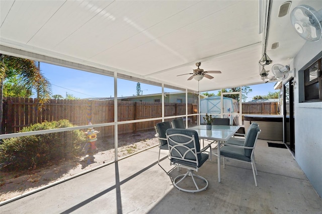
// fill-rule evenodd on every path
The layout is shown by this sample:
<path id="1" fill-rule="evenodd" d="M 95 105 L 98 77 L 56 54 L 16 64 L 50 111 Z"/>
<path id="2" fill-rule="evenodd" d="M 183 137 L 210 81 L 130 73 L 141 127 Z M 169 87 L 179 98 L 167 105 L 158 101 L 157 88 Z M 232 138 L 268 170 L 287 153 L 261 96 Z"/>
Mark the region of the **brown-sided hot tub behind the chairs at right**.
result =
<path id="1" fill-rule="evenodd" d="M 262 130 L 258 139 L 283 141 L 283 116 L 282 115 L 245 115 L 245 132 L 252 123 L 257 123 Z"/>

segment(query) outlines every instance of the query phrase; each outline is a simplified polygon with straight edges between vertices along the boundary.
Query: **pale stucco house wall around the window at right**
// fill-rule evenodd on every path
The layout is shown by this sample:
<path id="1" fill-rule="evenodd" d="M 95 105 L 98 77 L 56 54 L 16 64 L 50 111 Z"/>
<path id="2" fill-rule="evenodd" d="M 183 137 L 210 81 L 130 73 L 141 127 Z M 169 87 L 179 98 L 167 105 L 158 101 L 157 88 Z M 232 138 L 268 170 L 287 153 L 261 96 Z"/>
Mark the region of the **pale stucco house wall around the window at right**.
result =
<path id="1" fill-rule="evenodd" d="M 299 102 L 303 96 L 301 70 L 322 56 L 322 39 L 306 42 L 294 58 L 295 159 L 316 192 L 322 196 L 322 102 Z"/>

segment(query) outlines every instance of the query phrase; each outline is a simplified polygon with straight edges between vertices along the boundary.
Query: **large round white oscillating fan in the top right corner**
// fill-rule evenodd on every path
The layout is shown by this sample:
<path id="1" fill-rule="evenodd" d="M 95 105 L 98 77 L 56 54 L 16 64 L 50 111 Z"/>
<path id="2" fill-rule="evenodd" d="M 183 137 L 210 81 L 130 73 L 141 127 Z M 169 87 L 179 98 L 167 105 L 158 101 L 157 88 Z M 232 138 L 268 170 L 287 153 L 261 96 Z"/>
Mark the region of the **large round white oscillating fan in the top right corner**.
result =
<path id="1" fill-rule="evenodd" d="M 307 41 L 318 41 L 322 37 L 322 10 L 318 12 L 307 5 L 296 6 L 291 13 L 291 23 L 298 35 Z"/>

